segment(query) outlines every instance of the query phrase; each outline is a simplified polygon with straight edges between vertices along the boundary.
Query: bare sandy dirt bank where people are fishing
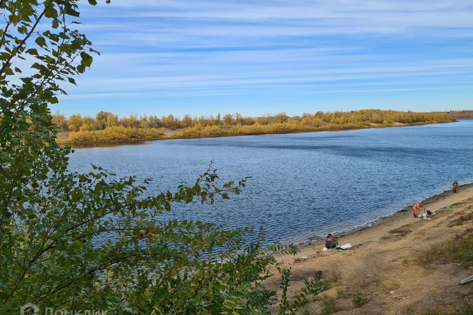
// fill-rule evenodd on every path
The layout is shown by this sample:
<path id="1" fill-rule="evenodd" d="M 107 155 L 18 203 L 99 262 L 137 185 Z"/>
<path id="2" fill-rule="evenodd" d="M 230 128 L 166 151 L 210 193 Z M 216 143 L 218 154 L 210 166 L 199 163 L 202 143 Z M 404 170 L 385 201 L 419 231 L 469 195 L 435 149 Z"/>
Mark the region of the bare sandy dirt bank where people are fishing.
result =
<path id="1" fill-rule="evenodd" d="M 279 257 L 284 267 L 292 268 L 289 296 L 302 287 L 304 278 L 318 270 L 323 271 L 324 278 L 336 278 L 333 287 L 320 293 L 301 314 L 320 314 L 323 295 L 335 298 L 337 308 L 332 314 L 337 315 L 398 315 L 408 307 L 458 305 L 473 300 L 473 282 L 459 284 L 473 275 L 473 267 L 464 269 L 457 263 L 443 261 L 434 262 L 434 267 L 427 269 L 412 262 L 430 245 L 446 242 L 473 228 L 472 220 L 452 226 L 460 215 L 473 212 L 473 186 L 429 198 L 423 207 L 437 214 L 428 216 L 431 220 L 422 220 L 414 219 L 412 210 L 397 213 L 378 225 L 339 238 L 340 245 L 353 246 L 346 251 L 323 252 L 324 243 L 318 242 L 302 247 L 297 257 Z M 278 281 L 272 277 L 267 285 L 276 288 Z M 340 298 L 337 290 L 347 288 L 350 295 Z M 354 308 L 352 303 L 356 292 L 367 300 L 360 308 Z"/>

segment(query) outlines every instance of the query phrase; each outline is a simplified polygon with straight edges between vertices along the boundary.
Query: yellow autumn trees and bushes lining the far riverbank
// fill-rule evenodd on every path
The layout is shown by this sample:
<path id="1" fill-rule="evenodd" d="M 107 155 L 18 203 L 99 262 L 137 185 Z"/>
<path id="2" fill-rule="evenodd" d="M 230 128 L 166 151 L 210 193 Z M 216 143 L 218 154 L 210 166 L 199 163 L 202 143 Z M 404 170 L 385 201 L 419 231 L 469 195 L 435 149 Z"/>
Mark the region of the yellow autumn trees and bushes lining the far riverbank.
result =
<path id="1" fill-rule="evenodd" d="M 172 137 L 217 136 L 229 134 L 284 133 L 305 130 L 339 130 L 372 126 L 395 126 L 400 124 L 447 123 L 455 118 L 447 113 L 400 112 L 392 110 L 367 109 L 350 112 L 304 113 L 302 116 L 288 116 L 285 113 L 261 117 L 243 117 L 226 114 L 223 117 L 184 115 L 182 119 L 168 116 L 117 115 L 101 111 L 91 116 L 61 113 L 53 115 L 53 121 L 69 133 L 70 142 L 95 142 L 130 139 L 154 139 L 166 137 L 166 129 L 179 129 Z"/>

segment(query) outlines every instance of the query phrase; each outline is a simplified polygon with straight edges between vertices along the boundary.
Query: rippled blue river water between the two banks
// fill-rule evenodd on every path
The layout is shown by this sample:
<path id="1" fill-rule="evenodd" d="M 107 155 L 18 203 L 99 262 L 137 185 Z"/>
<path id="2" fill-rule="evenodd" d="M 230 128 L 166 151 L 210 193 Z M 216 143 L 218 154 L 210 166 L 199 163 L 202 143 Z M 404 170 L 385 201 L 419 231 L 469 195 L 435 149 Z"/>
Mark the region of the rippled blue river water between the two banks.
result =
<path id="1" fill-rule="evenodd" d="M 222 181 L 252 176 L 243 193 L 213 206 L 177 204 L 163 220 L 264 226 L 269 241 L 299 243 L 389 216 L 455 180 L 473 182 L 473 120 L 83 148 L 69 168 L 89 172 L 93 163 L 153 178 L 148 191 L 158 193 L 193 183 L 210 160 Z"/>

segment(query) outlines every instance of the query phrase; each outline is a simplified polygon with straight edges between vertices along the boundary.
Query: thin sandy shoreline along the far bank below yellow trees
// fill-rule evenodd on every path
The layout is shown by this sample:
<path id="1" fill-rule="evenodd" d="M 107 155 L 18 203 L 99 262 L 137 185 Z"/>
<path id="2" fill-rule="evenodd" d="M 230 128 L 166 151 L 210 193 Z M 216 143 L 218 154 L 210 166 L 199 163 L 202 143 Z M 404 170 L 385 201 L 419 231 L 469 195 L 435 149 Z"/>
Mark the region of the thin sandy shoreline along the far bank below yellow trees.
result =
<path id="1" fill-rule="evenodd" d="M 159 137 L 151 139 L 127 139 L 127 140 L 106 140 L 106 141 L 87 141 L 87 142 L 68 142 L 61 141 L 58 143 L 60 146 L 74 146 L 80 149 L 82 146 L 87 148 L 100 147 L 101 145 L 119 146 L 129 144 L 142 144 L 145 141 L 160 141 L 160 140 L 185 140 L 185 139 L 205 139 L 205 138 L 221 138 L 221 137 L 237 137 L 237 136 L 261 136 L 261 135 L 275 135 L 275 134 L 295 134 L 295 133 L 309 133 L 309 132 L 323 132 L 323 131 L 348 131 L 348 130 L 361 130 L 361 129 L 376 129 L 376 128 L 393 128 L 393 127 L 411 127 L 411 126 L 426 126 L 436 124 L 452 124 L 458 123 L 458 120 L 453 122 L 441 122 L 441 123 L 413 123 L 413 124 L 402 124 L 394 126 L 367 126 L 367 127 L 347 127 L 347 128 L 328 128 L 328 129 L 305 129 L 305 130 L 294 130 L 294 131 L 283 131 L 283 132 L 269 132 L 269 133 L 236 133 L 236 134 L 218 134 L 218 135 L 204 135 L 204 136 L 188 136 L 188 137 Z M 73 148 L 74 149 L 74 148 Z"/>

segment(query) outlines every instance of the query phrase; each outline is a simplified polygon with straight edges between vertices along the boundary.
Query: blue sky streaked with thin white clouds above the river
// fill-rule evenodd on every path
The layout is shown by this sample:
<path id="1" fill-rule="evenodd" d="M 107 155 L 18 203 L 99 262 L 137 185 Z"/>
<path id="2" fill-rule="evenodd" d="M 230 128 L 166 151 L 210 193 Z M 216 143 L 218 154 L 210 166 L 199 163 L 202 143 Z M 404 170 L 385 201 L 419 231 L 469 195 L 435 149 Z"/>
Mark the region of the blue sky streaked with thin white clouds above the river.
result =
<path id="1" fill-rule="evenodd" d="M 67 115 L 473 109 L 471 0 L 85 3 Z"/>

